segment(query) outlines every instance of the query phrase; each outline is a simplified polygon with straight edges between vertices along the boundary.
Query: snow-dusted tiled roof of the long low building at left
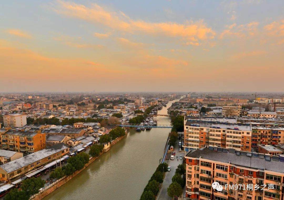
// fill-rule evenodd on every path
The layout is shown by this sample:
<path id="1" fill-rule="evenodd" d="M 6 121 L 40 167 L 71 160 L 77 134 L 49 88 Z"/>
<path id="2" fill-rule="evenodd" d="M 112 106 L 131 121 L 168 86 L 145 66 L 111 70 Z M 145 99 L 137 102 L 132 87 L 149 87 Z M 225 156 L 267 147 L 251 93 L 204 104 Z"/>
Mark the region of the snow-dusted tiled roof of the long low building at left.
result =
<path id="1" fill-rule="evenodd" d="M 7 173 L 13 172 L 15 170 L 21 169 L 29 164 L 35 163 L 43 158 L 49 157 L 55 153 L 58 153 L 62 150 L 65 150 L 69 148 L 64 143 L 59 143 L 56 145 L 53 145 L 51 147 L 47 147 L 45 149 L 42 149 L 40 151 L 34 152 L 32 154 L 26 155 L 22 158 L 16 159 L 14 161 L 11 161 L 9 163 L 5 163 L 0 165 L 0 168 L 5 170 Z"/>

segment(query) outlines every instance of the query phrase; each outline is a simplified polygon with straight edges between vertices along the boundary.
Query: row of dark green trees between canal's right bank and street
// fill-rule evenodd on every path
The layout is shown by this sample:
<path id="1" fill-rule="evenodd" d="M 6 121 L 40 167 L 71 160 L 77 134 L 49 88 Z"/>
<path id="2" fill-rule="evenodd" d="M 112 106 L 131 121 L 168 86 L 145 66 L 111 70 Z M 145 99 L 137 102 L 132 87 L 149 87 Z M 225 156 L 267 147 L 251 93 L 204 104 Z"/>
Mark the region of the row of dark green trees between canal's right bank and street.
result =
<path id="1" fill-rule="evenodd" d="M 144 188 L 144 191 L 140 197 L 140 200 L 154 200 L 158 194 L 160 184 L 163 182 L 164 173 L 168 170 L 168 164 L 160 163 L 156 168 L 156 171 L 152 175 L 148 184 Z"/>

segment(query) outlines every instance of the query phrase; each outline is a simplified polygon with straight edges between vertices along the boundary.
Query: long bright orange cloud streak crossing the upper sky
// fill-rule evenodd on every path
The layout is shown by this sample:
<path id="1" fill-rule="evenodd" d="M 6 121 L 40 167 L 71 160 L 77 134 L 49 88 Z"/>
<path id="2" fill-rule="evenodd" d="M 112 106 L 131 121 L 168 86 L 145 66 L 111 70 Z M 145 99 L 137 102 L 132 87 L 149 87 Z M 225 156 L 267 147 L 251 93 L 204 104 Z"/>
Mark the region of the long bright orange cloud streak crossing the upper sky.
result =
<path id="1" fill-rule="evenodd" d="M 157 36 L 198 38 L 201 40 L 214 38 L 215 32 L 208 28 L 203 21 L 177 24 L 174 22 L 152 23 L 143 20 L 133 20 L 126 14 L 110 12 L 97 4 L 91 7 L 72 2 L 57 1 L 57 13 L 91 21 L 93 23 L 108 26 L 122 32 L 143 32 Z"/>

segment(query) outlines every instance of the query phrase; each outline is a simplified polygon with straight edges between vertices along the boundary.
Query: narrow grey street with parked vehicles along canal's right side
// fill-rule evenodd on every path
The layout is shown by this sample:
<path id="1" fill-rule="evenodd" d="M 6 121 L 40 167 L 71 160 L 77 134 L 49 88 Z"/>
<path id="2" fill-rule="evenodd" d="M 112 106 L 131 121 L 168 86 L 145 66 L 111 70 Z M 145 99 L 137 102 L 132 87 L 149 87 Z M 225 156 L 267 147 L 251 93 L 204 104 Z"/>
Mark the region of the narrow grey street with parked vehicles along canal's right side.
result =
<path id="1" fill-rule="evenodd" d="M 177 144 L 174 147 L 174 152 L 176 152 L 175 159 L 168 161 L 168 165 L 171 166 L 171 170 L 169 172 L 166 172 L 164 182 L 162 183 L 162 186 L 156 198 L 157 200 L 172 200 L 172 198 L 168 195 L 168 187 L 172 183 L 172 178 L 176 173 L 176 168 L 179 164 L 182 164 L 182 159 L 180 160 L 179 156 L 185 156 L 185 151 L 179 151 L 178 142 L 179 140 L 177 140 Z"/>

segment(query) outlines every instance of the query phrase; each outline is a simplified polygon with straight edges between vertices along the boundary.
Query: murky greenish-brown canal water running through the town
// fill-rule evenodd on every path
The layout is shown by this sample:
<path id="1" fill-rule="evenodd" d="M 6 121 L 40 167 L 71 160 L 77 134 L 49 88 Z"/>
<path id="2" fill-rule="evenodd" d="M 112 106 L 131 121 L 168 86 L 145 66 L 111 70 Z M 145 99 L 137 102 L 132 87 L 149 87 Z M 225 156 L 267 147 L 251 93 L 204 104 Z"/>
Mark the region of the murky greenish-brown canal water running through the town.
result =
<path id="1" fill-rule="evenodd" d="M 167 114 L 173 102 L 158 114 Z M 170 117 L 157 116 L 158 124 L 170 124 Z M 152 128 L 128 135 L 101 155 L 80 174 L 44 200 L 138 200 L 163 157 L 170 128 Z"/>

